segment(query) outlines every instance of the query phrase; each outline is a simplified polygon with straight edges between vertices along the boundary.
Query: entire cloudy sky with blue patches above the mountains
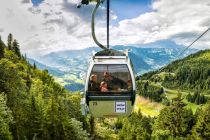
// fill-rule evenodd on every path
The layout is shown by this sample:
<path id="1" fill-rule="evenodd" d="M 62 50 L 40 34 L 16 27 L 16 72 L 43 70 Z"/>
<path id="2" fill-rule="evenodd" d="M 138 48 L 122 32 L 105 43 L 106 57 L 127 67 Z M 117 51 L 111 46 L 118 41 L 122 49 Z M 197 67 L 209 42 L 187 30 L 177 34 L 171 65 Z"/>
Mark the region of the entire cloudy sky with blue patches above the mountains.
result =
<path id="1" fill-rule="evenodd" d="M 0 35 L 12 33 L 31 58 L 96 46 L 91 36 L 95 3 L 76 8 L 79 0 L 1 0 Z M 111 45 L 140 46 L 170 40 L 184 46 L 210 27 L 209 0 L 110 0 Z M 96 35 L 106 43 L 106 5 L 98 9 Z M 210 48 L 210 33 L 193 47 Z"/>

